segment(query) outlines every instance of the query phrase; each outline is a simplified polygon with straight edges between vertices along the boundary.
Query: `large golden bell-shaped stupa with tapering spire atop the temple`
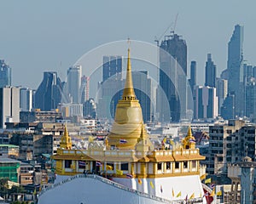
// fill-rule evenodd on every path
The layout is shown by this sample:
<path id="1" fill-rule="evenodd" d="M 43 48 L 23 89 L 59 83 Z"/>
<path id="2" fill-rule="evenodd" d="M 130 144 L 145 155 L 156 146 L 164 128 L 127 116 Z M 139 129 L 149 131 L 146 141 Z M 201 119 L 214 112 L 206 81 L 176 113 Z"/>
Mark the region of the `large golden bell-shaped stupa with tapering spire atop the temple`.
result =
<path id="1" fill-rule="evenodd" d="M 110 147 L 119 149 L 135 149 L 137 142 L 143 137 L 148 137 L 144 123 L 141 105 L 134 93 L 131 77 L 131 57 L 130 48 L 128 48 L 126 82 L 122 95 L 116 106 L 113 127 L 108 135 L 108 144 Z"/>

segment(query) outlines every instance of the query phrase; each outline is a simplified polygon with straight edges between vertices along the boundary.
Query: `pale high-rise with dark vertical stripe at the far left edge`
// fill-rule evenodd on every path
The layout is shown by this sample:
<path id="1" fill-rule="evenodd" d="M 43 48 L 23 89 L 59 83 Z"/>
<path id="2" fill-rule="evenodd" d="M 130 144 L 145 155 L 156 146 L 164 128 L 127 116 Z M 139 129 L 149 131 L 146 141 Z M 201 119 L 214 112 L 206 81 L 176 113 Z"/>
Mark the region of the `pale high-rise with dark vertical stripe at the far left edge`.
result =
<path id="1" fill-rule="evenodd" d="M 0 128 L 5 128 L 5 122 L 20 122 L 19 101 L 20 88 L 0 88 Z"/>

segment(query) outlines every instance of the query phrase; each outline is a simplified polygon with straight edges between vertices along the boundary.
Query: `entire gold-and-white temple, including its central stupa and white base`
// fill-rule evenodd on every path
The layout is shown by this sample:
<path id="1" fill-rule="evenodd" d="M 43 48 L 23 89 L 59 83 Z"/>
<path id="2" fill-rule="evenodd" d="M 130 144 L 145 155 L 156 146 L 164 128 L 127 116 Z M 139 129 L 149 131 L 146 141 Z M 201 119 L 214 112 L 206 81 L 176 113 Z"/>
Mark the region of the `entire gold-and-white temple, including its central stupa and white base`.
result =
<path id="1" fill-rule="evenodd" d="M 91 194 L 95 194 L 92 190 L 96 188 L 98 195 L 94 198 L 94 203 L 98 203 L 96 201 L 100 200 L 96 199 L 105 195 L 111 203 L 139 203 L 137 196 L 139 201 L 146 201 L 140 203 L 177 203 L 184 199 L 207 203 L 200 179 L 205 173 L 200 161 L 204 160 L 205 156 L 201 156 L 199 149 L 195 148 L 191 128 L 189 127 L 181 144 L 172 144 L 170 147 L 166 147 L 165 140 L 160 146 L 155 146 L 149 139 L 143 123 L 142 108 L 133 88 L 130 48 L 125 88 L 116 107 L 113 127 L 108 138 L 104 142 L 89 141 L 86 150 L 72 147 L 71 137 L 65 127 L 61 147 L 52 156 L 56 162 L 56 183 L 62 183 L 55 184 L 50 190 L 39 195 L 40 204 L 46 203 L 46 195 L 52 195 L 55 200 L 58 197 L 64 199 L 67 196 L 64 193 L 57 195 L 56 189 L 66 190 L 63 186 L 67 188 L 69 185 L 68 188 L 72 191 L 71 185 L 75 182 L 81 185 L 73 186 L 76 188 L 76 194 L 84 190 L 83 194 L 79 195 L 84 196 L 84 201 L 87 202 L 90 201 Z M 94 174 L 94 177 L 90 174 Z M 86 179 L 79 182 L 82 178 Z M 90 179 L 96 181 L 90 182 Z M 99 183 L 100 181 L 104 184 Z M 98 185 L 94 186 L 96 184 Z M 112 194 L 113 186 L 119 189 Z M 135 202 L 122 202 L 126 201 L 126 195 Z"/>

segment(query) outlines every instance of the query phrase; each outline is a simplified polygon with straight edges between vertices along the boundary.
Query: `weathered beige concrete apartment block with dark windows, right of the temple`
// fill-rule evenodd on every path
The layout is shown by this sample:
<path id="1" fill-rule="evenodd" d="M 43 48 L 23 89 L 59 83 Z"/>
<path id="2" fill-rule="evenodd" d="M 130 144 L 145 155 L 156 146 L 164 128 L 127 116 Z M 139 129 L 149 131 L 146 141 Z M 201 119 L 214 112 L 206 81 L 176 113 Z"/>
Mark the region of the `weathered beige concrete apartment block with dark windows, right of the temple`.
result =
<path id="1" fill-rule="evenodd" d="M 255 148 L 247 149 L 248 144 L 252 148 L 250 140 L 255 139 L 255 127 L 246 126 L 244 121 L 229 120 L 228 124 L 211 126 L 209 136 L 207 173 L 211 175 L 226 175 L 229 163 L 241 161 L 246 152 L 255 154 Z"/>

